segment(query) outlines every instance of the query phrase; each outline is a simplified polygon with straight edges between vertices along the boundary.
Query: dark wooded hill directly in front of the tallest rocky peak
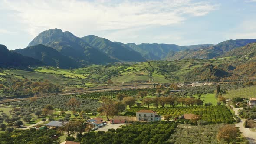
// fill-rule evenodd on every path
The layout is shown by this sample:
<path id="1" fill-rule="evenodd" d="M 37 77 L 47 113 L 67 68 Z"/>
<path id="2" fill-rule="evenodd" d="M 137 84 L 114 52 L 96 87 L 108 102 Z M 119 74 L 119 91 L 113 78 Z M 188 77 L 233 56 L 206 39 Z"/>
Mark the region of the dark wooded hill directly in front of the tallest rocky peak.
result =
<path id="1" fill-rule="evenodd" d="M 59 67 L 63 69 L 78 68 L 81 66 L 79 62 L 68 56 L 62 55 L 56 49 L 44 45 L 30 46 L 25 49 L 16 49 L 14 52 L 20 53 L 23 56 L 39 59 L 49 66 Z"/>

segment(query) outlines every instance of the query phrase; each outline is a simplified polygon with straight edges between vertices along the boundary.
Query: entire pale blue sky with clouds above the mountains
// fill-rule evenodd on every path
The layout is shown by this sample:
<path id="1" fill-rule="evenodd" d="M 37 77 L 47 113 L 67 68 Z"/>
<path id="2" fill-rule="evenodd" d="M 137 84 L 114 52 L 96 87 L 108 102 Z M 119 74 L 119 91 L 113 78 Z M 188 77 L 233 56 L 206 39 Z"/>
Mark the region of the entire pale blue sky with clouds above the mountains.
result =
<path id="1" fill-rule="evenodd" d="M 122 43 L 256 39 L 256 0 L 0 0 L 0 44 L 25 48 L 62 29 Z"/>

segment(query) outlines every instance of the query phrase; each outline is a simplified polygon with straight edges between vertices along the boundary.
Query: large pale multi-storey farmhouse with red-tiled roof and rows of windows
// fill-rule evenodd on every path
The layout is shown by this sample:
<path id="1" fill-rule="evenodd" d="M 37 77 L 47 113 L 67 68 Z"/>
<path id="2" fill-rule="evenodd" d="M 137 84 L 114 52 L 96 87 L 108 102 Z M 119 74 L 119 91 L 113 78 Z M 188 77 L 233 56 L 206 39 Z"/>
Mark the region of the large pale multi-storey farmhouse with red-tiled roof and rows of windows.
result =
<path id="1" fill-rule="evenodd" d="M 161 121 L 161 116 L 152 110 L 139 110 L 136 112 L 136 121 L 141 121 L 141 122 Z"/>

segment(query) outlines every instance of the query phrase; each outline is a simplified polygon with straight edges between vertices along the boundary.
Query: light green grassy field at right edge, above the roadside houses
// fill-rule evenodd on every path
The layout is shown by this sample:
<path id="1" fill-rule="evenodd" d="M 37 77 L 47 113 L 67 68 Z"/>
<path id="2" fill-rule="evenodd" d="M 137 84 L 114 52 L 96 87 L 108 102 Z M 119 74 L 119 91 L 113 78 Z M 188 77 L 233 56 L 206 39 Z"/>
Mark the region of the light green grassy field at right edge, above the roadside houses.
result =
<path id="1" fill-rule="evenodd" d="M 256 86 L 250 86 L 245 88 L 238 88 L 236 90 L 227 91 L 227 94 L 224 95 L 225 98 L 252 98 L 256 97 Z"/>

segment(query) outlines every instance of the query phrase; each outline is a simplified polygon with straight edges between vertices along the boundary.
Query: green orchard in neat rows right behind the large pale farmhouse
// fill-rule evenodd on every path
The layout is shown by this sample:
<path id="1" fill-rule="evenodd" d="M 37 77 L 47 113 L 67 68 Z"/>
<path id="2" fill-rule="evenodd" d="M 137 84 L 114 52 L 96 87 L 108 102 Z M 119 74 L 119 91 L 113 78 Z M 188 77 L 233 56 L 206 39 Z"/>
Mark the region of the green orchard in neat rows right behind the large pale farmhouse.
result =
<path id="1" fill-rule="evenodd" d="M 145 108 L 131 108 L 132 112 Z M 225 105 L 199 106 L 199 107 L 174 107 L 174 108 L 150 108 L 158 115 L 181 116 L 184 114 L 200 115 L 203 121 L 208 123 L 234 123 L 232 113 Z"/>

